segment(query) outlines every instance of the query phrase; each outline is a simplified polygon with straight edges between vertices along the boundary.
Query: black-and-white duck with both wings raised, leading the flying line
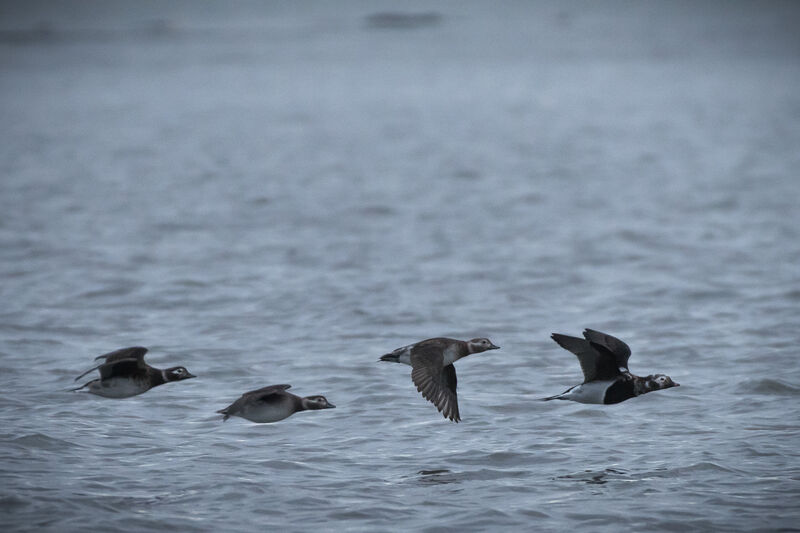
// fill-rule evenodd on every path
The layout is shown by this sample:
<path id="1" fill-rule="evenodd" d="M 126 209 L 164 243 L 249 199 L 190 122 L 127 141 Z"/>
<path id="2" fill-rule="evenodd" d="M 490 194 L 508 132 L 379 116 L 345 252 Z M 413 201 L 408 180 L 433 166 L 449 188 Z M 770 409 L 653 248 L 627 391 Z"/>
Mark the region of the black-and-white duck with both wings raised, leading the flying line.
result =
<path id="1" fill-rule="evenodd" d="M 636 376 L 628 370 L 631 349 L 627 344 L 599 331 L 587 329 L 584 338 L 553 333 L 552 339 L 578 356 L 584 381 L 555 396 L 542 400 L 572 400 L 580 403 L 611 404 L 624 402 L 655 390 L 679 386 L 664 374 Z"/>

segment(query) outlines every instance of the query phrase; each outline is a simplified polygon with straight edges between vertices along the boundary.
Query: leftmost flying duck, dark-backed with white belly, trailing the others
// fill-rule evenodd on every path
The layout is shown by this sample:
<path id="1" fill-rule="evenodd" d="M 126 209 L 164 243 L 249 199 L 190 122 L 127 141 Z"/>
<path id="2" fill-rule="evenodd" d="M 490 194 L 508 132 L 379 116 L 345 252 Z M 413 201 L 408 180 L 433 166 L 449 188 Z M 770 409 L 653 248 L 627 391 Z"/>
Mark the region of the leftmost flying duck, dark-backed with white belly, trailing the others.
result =
<path id="1" fill-rule="evenodd" d="M 85 388 L 87 392 L 106 398 L 128 398 L 164 383 L 196 377 L 182 366 L 164 370 L 154 368 L 144 362 L 146 353 L 147 348 L 133 346 L 99 355 L 95 357 L 95 361 L 104 361 L 75 378 L 75 381 L 94 370 L 100 371 L 100 379 L 94 379 L 72 390 Z"/>

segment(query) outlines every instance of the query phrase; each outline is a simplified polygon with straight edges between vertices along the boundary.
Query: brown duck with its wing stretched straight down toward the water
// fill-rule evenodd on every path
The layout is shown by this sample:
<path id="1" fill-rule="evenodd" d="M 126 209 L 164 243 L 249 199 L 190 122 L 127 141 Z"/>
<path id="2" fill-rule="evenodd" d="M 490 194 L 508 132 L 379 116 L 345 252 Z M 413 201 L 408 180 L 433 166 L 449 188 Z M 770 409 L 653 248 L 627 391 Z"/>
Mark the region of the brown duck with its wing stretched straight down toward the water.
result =
<path id="1" fill-rule="evenodd" d="M 409 344 L 381 356 L 380 361 L 411 366 L 411 380 L 422 396 L 445 418 L 458 422 L 456 369 L 453 363 L 473 353 L 500 348 L 489 339 L 460 341 L 437 337 Z"/>

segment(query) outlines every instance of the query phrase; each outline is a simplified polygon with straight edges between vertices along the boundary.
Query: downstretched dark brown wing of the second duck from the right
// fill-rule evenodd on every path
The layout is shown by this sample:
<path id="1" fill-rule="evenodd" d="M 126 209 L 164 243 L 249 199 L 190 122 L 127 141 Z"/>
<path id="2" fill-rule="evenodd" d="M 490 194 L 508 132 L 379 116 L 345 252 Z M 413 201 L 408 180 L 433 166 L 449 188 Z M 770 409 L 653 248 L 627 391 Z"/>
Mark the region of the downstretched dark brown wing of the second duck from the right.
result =
<path id="1" fill-rule="evenodd" d="M 458 396 L 456 369 L 453 365 L 442 368 L 441 350 L 420 351 L 411 356 L 411 380 L 422 396 L 431 402 L 445 418 L 458 422 Z"/>

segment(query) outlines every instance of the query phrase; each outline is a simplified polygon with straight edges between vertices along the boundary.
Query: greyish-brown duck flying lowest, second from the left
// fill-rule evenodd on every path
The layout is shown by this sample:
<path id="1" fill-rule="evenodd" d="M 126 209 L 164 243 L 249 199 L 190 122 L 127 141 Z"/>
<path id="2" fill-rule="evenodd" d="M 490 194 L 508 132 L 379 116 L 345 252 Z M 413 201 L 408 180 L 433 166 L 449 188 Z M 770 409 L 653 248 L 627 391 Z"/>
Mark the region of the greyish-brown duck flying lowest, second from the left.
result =
<path id="1" fill-rule="evenodd" d="M 217 411 L 225 415 L 224 422 L 232 416 L 239 416 L 251 422 L 277 422 L 290 417 L 298 411 L 332 409 L 336 407 L 324 396 L 295 396 L 286 389 L 291 385 L 270 385 L 242 394 L 238 400 L 225 409 Z"/>

